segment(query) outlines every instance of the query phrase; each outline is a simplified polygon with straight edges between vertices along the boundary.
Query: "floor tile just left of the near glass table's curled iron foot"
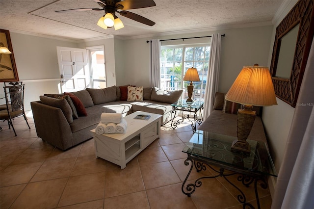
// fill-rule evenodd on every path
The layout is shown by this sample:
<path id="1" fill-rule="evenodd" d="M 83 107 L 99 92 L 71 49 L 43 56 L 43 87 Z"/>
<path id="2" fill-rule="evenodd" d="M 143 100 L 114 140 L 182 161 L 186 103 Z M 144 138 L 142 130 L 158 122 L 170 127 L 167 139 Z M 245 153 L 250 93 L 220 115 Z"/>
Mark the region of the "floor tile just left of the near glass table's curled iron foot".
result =
<path id="1" fill-rule="evenodd" d="M 169 161 L 144 164 L 140 168 L 146 189 L 181 182 Z"/>

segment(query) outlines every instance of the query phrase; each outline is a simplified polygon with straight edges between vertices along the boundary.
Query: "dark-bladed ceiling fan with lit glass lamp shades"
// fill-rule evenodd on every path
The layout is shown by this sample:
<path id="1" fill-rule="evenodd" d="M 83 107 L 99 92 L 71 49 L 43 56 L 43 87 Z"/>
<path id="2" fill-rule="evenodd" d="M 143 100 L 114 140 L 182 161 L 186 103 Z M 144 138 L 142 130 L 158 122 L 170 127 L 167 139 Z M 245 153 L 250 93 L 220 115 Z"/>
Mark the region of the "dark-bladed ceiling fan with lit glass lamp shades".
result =
<path id="1" fill-rule="evenodd" d="M 156 3 L 154 0 L 93 0 L 96 3 L 98 3 L 99 6 L 102 8 L 78 8 L 78 9 L 66 9 L 66 10 L 59 10 L 55 12 L 69 12 L 69 11 L 89 11 L 89 10 L 95 10 L 95 11 L 105 11 L 105 15 L 102 16 L 97 25 L 107 29 L 107 27 L 113 27 L 115 30 L 118 30 L 120 28 L 123 28 L 124 25 L 122 21 L 115 15 L 117 12 L 118 14 L 130 18 L 132 20 L 135 20 L 139 23 L 148 25 L 148 26 L 154 26 L 155 22 L 140 16 L 138 14 L 135 14 L 133 12 L 126 11 L 126 9 L 138 9 L 138 8 L 145 8 L 145 7 L 151 7 L 156 6 Z M 124 10 L 122 10 L 124 9 Z M 121 10 L 121 11 L 119 11 Z"/>

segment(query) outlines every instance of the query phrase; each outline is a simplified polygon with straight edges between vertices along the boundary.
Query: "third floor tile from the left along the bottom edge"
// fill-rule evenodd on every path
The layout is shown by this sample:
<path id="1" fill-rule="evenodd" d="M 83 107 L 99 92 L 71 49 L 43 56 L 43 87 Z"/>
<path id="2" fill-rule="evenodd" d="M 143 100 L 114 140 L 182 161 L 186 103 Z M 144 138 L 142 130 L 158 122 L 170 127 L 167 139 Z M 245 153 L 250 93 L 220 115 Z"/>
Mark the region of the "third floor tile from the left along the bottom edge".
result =
<path id="1" fill-rule="evenodd" d="M 104 198 L 105 172 L 70 177 L 58 207 Z"/>

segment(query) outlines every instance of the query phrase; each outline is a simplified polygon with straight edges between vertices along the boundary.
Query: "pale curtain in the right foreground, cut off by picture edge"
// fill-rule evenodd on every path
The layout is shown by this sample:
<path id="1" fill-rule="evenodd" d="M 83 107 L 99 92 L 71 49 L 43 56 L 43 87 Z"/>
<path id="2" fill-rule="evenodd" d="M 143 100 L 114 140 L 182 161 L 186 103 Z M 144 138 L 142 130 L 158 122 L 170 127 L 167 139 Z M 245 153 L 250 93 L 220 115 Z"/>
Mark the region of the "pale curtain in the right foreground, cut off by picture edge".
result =
<path id="1" fill-rule="evenodd" d="M 300 87 L 271 209 L 314 208 L 313 80 L 314 42 Z"/>

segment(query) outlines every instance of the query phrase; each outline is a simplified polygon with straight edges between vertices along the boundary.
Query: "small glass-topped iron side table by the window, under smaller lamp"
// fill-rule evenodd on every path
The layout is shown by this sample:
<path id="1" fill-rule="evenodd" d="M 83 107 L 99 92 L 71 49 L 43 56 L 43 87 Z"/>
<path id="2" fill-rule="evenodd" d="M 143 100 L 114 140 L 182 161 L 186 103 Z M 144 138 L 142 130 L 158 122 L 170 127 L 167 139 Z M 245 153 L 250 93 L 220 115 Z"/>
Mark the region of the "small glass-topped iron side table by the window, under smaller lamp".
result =
<path id="1" fill-rule="evenodd" d="M 186 102 L 186 100 L 179 100 L 178 102 L 171 104 L 172 105 L 172 113 L 174 113 L 173 119 L 171 121 L 171 127 L 175 129 L 180 123 L 184 121 L 184 119 L 188 119 L 192 123 L 193 133 L 196 131 L 196 122 L 200 125 L 203 122 L 202 109 L 204 109 L 203 101 L 193 101 Z M 186 116 L 182 114 L 181 119 L 174 121 L 176 117 L 177 111 L 186 111 L 194 113 L 194 120 L 191 120 L 189 114 Z M 197 116 L 197 112 L 200 112 L 200 118 Z"/>

